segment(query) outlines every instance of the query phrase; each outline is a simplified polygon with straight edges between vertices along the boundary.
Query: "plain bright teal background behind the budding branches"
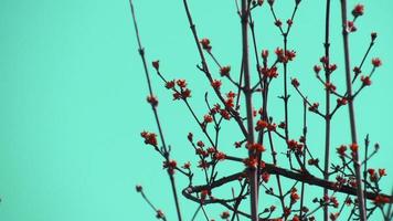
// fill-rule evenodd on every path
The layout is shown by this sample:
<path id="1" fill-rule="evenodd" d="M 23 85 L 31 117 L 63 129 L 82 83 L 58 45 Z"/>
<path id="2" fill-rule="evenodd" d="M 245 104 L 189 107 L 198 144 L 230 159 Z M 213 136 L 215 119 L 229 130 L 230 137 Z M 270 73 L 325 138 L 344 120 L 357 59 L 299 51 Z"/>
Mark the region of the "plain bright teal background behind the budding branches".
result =
<path id="1" fill-rule="evenodd" d="M 289 48 L 298 51 L 296 62 L 289 66 L 289 75 L 298 77 L 301 90 L 320 103 L 323 90 L 311 67 L 323 53 L 325 3 L 321 2 L 302 1 L 289 36 Z M 365 15 L 357 22 L 359 31 L 351 34 L 352 63 L 359 64 L 370 32 L 376 31 L 379 38 L 371 56 L 380 56 L 383 66 L 374 75 L 374 84 L 357 102 L 358 134 L 362 139 L 370 133 L 371 140 L 380 143 L 382 149 L 371 164 L 386 168 L 390 173 L 389 169 L 393 169 L 393 65 L 390 61 L 393 56 L 390 25 L 393 3 L 389 0 L 362 2 Z M 277 3 L 278 17 L 285 21 L 290 15 L 293 1 Z M 350 8 L 355 3 L 349 1 Z M 206 113 L 203 93 L 209 86 L 195 69 L 200 60 L 182 2 L 135 0 L 135 7 L 148 60 L 160 59 L 169 78 L 189 80 L 193 91 L 191 103 L 202 117 Z M 332 61 L 339 66 L 333 81 L 342 92 L 343 84 L 339 83 L 343 82 L 339 3 L 333 2 L 332 7 L 331 52 Z M 190 8 L 200 36 L 209 36 L 219 60 L 231 64 L 236 71 L 233 73 L 237 73 L 241 36 L 234 2 L 191 0 Z M 259 50 L 282 45 L 268 8 L 264 6 L 256 13 Z M 144 185 L 155 204 L 166 211 L 169 220 L 174 220 L 169 179 L 161 170 L 162 160 L 145 147 L 139 137 L 141 130 L 156 130 L 156 126 L 145 102 L 147 86 L 130 18 L 127 0 L 0 0 L 1 221 L 156 220 L 135 192 L 136 183 Z M 371 56 L 364 71 L 371 67 Z M 197 125 L 184 105 L 171 102 L 171 94 L 155 75 L 152 80 L 174 158 L 179 164 L 191 160 L 195 165 L 185 136 L 194 131 L 200 139 L 203 137 L 197 133 Z M 277 120 L 283 118 L 283 104 L 276 98 L 282 93 L 279 83 L 273 84 L 276 90 L 270 96 L 270 113 Z M 227 82 L 224 84 L 227 86 Z M 301 99 L 293 90 L 290 94 L 291 136 L 298 137 Z M 333 119 L 333 147 L 349 143 L 347 115 L 344 108 Z M 309 120 L 310 146 L 316 154 L 321 154 L 321 120 L 311 115 Z M 222 149 L 244 155 L 244 150 L 232 147 L 240 138 L 234 124 L 229 124 L 223 133 L 225 140 L 221 144 L 225 147 Z M 285 149 L 283 145 L 278 148 Z M 266 157 L 269 159 L 268 155 Z M 223 165 L 221 175 L 242 168 L 230 162 Z M 178 186 L 184 185 L 185 179 Z M 391 177 L 382 185 L 389 192 Z M 307 194 L 312 198 L 321 191 L 312 188 Z M 264 206 L 274 203 L 264 197 L 262 201 Z M 188 220 L 197 206 L 184 199 L 181 203 Z M 247 206 L 245 203 L 244 208 Z M 217 219 L 221 211 L 212 208 L 212 218 Z"/>

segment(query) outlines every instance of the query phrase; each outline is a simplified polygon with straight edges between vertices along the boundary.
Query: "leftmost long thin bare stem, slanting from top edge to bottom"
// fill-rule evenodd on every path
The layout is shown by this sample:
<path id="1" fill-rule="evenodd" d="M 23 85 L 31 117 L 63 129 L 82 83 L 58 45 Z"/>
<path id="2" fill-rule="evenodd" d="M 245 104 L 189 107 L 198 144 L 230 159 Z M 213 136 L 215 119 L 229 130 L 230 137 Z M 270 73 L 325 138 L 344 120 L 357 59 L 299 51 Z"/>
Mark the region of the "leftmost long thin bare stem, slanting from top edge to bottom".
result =
<path id="1" fill-rule="evenodd" d="M 145 74 L 146 74 L 146 78 L 147 78 L 147 83 L 148 83 L 148 87 L 149 87 L 149 93 L 150 93 L 150 96 L 153 96 L 152 88 L 151 88 L 150 74 L 149 74 L 149 70 L 147 69 L 147 62 L 146 62 L 146 57 L 145 57 L 145 49 L 142 48 L 142 44 L 141 44 L 141 41 L 140 41 L 140 35 L 139 35 L 139 31 L 138 31 L 137 19 L 136 19 L 136 15 L 135 15 L 135 9 L 134 9 L 132 0 L 129 0 L 129 4 L 130 4 L 130 8 L 131 8 L 131 14 L 132 14 L 132 21 L 134 21 L 134 25 L 135 25 L 135 32 L 136 32 L 137 40 L 138 40 L 138 46 L 139 46 L 138 51 L 139 51 L 140 57 L 142 60 L 142 63 L 144 63 Z M 159 116 L 158 116 L 158 110 L 157 110 L 156 105 L 151 105 L 151 107 L 152 107 L 152 112 L 153 112 L 155 118 L 156 118 L 156 124 L 157 124 L 157 127 L 158 127 L 158 130 L 159 130 L 159 134 L 160 134 L 161 143 L 162 143 L 162 147 L 163 147 L 163 151 L 164 151 L 164 158 L 166 158 L 166 161 L 169 162 L 170 152 L 169 152 L 169 150 L 167 148 L 167 145 L 166 145 L 166 141 L 164 141 L 164 136 L 163 136 L 161 124 L 160 124 L 160 119 L 159 119 Z M 182 220 L 181 219 L 181 210 L 180 210 L 178 192 L 177 192 L 177 189 L 176 189 L 174 177 L 173 177 L 172 172 L 170 172 L 169 170 L 167 170 L 167 171 L 168 171 L 168 176 L 169 176 L 169 179 L 170 179 L 170 182 L 171 182 L 171 187 L 172 187 L 172 193 L 173 193 L 173 198 L 174 198 L 174 204 L 176 204 L 176 209 L 177 209 L 178 219 L 179 219 L 179 221 L 181 221 Z"/>

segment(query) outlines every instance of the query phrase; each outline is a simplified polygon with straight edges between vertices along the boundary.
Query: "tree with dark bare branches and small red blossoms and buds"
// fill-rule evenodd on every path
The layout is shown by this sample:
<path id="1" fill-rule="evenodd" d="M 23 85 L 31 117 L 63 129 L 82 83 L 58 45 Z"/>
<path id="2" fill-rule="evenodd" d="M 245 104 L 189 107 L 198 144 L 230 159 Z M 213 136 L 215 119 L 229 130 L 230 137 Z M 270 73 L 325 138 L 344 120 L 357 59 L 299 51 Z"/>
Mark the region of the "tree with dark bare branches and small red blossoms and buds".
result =
<path id="1" fill-rule="evenodd" d="M 198 169 L 193 170 L 188 161 L 182 166 L 171 157 L 171 148 L 168 146 L 162 131 L 160 117 L 158 114 L 158 98 L 153 93 L 150 82 L 150 72 L 145 50 L 141 45 L 138 32 L 132 0 L 130 0 L 131 13 L 138 40 L 139 54 L 145 69 L 149 94 L 147 102 L 151 105 L 158 133 L 142 131 L 141 137 L 145 144 L 151 146 L 163 158 L 163 168 L 170 178 L 171 190 L 174 199 L 178 220 L 183 220 L 179 194 L 198 203 L 199 208 L 194 212 L 192 220 L 202 211 L 204 218 L 211 220 L 205 207 L 219 204 L 224 208 L 221 214 L 223 220 L 249 219 L 256 220 L 316 220 L 316 212 L 322 210 L 323 220 L 368 220 L 374 211 L 379 210 L 385 221 L 393 219 L 392 202 L 393 197 L 382 193 L 380 180 L 386 176 L 385 169 L 374 169 L 368 161 L 376 154 L 379 145 L 370 145 L 369 136 L 364 143 L 357 137 L 357 124 L 353 103 L 358 95 L 371 85 L 371 77 L 379 66 L 382 65 L 380 59 L 371 59 L 371 71 L 363 71 L 368 63 L 369 53 L 372 50 L 376 33 L 371 33 L 370 45 L 359 65 L 351 64 L 349 46 L 349 35 L 357 31 L 355 21 L 364 13 L 364 7 L 357 4 L 351 11 L 351 18 L 347 14 L 347 1 L 341 2 L 342 42 L 344 54 L 344 69 L 341 71 L 346 76 L 346 88 L 339 92 L 331 80 L 331 75 L 337 71 L 337 65 L 330 59 L 330 0 L 326 0 L 325 17 L 325 54 L 321 55 L 318 64 L 314 66 L 317 82 L 322 86 L 325 109 L 320 104 L 310 101 L 300 87 L 300 82 L 295 77 L 289 77 L 289 64 L 295 61 L 296 52 L 288 49 L 288 39 L 295 22 L 300 0 L 293 2 L 294 10 L 289 19 L 284 23 L 278 19 L 275 10 L 275 1 L 267 0 L 235 0 L 237 15 L 242 30 L 242 67 L 240 74 L 233 74 L 230 65 L 222 64 L 213 53 L 213 46 L 208 38 L 200 38 L 187 0 L 183 0 L 187 19 L 191 33 L 201 59 L 197 65 L 198 70 L 205 76 L 206 83 L 211 85 L 216 102 L 205 94 L 204 103 L 208 107 L 204 116 L 198 116 L 190 104 L 191 88 L 185 80 L 168 80 L 162 74 L 159 61 L 151 62 L 152 69 L 158 78 L 162 81 L 174 101 L 184 103 L 191 114 L 192 120 L 199 125 L 199 130 L 203 138 L 197 139 L 189 133 L 187 139 L 195 151 L 198 158 Z M 274 18 L 274 25 L 277 27 L 282 35 L 283 45 L 278 46 L 274 54 L 267 50 L 259 51 L 254 29 L 253 12 L 259 7 L 268 7 Z M 211 59 L 212 64 L 208 62 Z M 255 60 L 256 69 L 251 69 L 251 60 Z M 212 67 L 213 65 L 213 67 Z M 217 70 L 217 71 L 216 71 Z M 256 77 L 254 77 L 256 76 Z M 220 77 L 220 78 L 217 78 Z M 256 80 L 256 81 L 254 81 Z M 270 101 L 270 83 L 282 81 L 279 97 L 284 103 L 284 119 L 276 122 L 273 113 L 268 108 Z M 224 91 L 223 82 L 231 84 L 232 90 Z M 360 84 L 357 84 L 360 82 Z M 289 87 L 293 87 L 302 103 L 302 127 L 299 138 L 290 137 L 289 129 Z M 337 102 L 333 103 L 332 101 Z M 259 104 L 257 106 L 255 104 Z M 298 105 L 299 104 L 294 104 Z M 350 124 L 350 144 L 342 144 L 339 147 L 331 145 L 331 119 L 336 113 L 348 108 L 348 119 Z M 277 112 L 277 110 L 275 110 Z M 325 155 L 316 156 L 308 146 L 308 120 L 307 116 L 314 114 L 325 123 Z M 219 145 L 221 139 L 221 127 L 226 122 L 234 122 L 243 137 L 234 141 L 234 148 L 238 151 L 246 151 L 246 157 L 231 156 L 225 154 L 225 149 Z M 296 129 L 296 128 L 295 128 Z M 203 141 L 203 140 L 205 141 Z M 323 144 L 322 143 L 322 144 Z M 284 144 L 284 145 L 283 145 Z M 283 148 L 285 146 L 285 148 Z M 285 152 L 286 162 L 278 161 L 278 152 Z M 334 152 L 339 161 L 331 161 L 331 154 Z M 364 157 L 360 156 L 364 152 Z M 219 177 L 217 165 L 222 161 L 232 161 L 244 165 L 243 169 L 225 177 Z M 321 161 L 320 161 L 321 160 Z M 288 165 L 283 167 L 280 165 Z M 194 183 L 194 175 L 202 173 L 204 183 Z M 176 175 L 181 175 L 188 179 L 189 185 L 182 190 L 177 188 Z M 270 180 L 270 177 L 275 180 Z M 283 179 L 290 180 L 291 185 L 284 185 Z M 217 197 L 213 192 L 216 189 L 235 183 L 236 190 L 232 189 L 227 196 Z M 323 194 L 316 196 L 309 200 L 306 198 L 306 185 L 315 186 L 323 190 Z M 163 212 L 157 209 L 146 197 L 141 186 L 136 190 L 157 213 L 158 219 L 167 220 Z M 262 192 L 264 197 L 261 198 Z M 261 207 L 264 199 L 274 198 L 279 206 L 267 206 L 263 210 Z M 241 203 L 248 201 L 249 210 L 241 210 Z M 348 212 L 344 212 L 348 210 Z M 346 218 L 346 217 L 348 218 Z M 321 220 L 321 219 L 318 219 Z"/>

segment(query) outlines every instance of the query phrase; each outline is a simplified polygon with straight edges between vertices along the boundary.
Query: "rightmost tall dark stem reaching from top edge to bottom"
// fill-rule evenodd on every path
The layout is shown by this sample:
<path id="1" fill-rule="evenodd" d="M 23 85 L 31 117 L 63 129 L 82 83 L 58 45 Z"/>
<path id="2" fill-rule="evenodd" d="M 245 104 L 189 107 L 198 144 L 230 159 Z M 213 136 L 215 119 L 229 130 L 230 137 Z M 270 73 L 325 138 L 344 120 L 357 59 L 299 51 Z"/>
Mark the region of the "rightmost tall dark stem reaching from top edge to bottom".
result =
<path id="1" fill-rule="evenodd" d="M 354 107 L 352 99 L 352 84 L 351 84 L 351 65 L 350 65 L 350 54 L 349 54 L 349 40 L 348 40 L 348 29 L 347 29 L 347 0 L 341 0 L 341 24 L 342 24 L 342 39 L 343 39 L 343 49 L 344 49 L 344 61 L 346 61 L 346 78 L 347 78 L 347 92 L 348 97 L 351 97 L 348 101 L 350 127 L 351 127 L 351 139 L 352 144 L 358 144 L 357 138 L 357 126 L 354 118 Z M 359 152 L 353 151 L 353 166 L 355 172 L 355 182 L 357 182 L 357 194 L 359 203 L 359 219 L 360 221 L 367 220 L 367 211 L 364 207 L 363 189 L 362 189 L 362 178 L 360 171 L 359 162 Z"/>

